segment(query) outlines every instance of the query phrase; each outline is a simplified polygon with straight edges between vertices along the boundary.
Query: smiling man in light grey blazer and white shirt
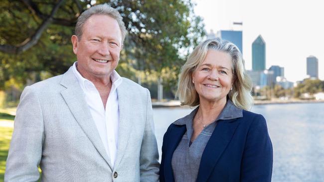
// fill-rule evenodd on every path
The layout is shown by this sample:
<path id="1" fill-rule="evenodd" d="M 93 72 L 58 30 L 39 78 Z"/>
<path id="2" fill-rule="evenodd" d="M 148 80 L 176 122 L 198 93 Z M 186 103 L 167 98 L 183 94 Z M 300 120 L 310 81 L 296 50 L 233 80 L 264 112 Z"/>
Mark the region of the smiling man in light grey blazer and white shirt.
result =
<path id="1" fill-rule="evenodd" d="M 121 78 L 126 28 L 119 12 L 96 5 L 78 18 L 77 62 L 26 87 L 8 153 L 5 182 L 157 182 L 159 154 L 150 92 Z"/>

